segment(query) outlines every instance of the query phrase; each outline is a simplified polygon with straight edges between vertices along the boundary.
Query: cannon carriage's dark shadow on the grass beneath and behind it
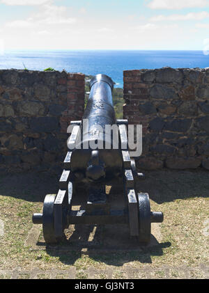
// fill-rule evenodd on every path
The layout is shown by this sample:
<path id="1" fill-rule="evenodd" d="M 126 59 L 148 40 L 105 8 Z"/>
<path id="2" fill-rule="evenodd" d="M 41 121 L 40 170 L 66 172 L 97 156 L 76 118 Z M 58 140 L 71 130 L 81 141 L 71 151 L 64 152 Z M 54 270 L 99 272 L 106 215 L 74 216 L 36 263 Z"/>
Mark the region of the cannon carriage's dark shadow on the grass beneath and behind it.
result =
<path id="1" fill-rule="evenodd" d="M 118 226 L 110 226 L 109 230 L 98 226 L 93 239 L 89 241 L 93 225 L 88 225 L 87 228 L 78 225 L 68 240 L 57 246 L 47 246 L 46 251 L 52 257 L 59 257 L 63 264 L 75 265 L 82 269 L 95 262 L 116 267 L 134 261 L 150 264 L 153 256 L 163 255 L 163 249 L 171 246 L 170 242 L 159 243 L 153 235 L 150 244 L 143 246 L 139 244 L 138 239 L 129 237 L 128 228 L 125 229 L 125 226 L 121 228 L 123 234 L 118 231 Z M 88 260 L 84 255 L 88 255 Z"/>

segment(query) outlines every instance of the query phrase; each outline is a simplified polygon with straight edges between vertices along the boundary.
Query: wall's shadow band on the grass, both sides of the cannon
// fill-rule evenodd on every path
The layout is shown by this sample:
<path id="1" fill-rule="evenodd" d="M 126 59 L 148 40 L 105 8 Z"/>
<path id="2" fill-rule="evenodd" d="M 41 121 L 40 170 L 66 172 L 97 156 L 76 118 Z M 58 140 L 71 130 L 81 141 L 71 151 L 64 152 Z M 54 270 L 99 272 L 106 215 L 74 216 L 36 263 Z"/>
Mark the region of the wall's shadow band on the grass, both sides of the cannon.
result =
<path id="1" fill-rule="evenodd" d="M 176 199 L 209 196 L 209 172 L 199 168 L 195 171 L 145 171 L 145 180 L 139 180 L 138 191 L 149 193 L 156 203 Z M 0 194 L 32 202 L 43 202 L 48 193 L 59 190 L 60 174 L 19 173 L 0 177 Z M 120 183 L 118 184 L 120 189 Z M 117 187 L 114 187 L 117 189 Z"/>

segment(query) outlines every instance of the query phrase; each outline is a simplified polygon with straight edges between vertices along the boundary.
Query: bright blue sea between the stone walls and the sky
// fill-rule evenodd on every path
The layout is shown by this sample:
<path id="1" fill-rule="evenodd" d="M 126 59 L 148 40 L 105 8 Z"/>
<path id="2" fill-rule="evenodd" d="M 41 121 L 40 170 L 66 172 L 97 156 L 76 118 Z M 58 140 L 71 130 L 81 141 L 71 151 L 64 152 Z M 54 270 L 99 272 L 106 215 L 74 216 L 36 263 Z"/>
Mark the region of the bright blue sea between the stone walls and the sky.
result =
<path id="1" fill-rule="evenodd" d="M 44 70 L 109 75 L 116 87 L 123 87 L 123 70 L 209 67 L 209 55 L 202 51 L 10 51 L 0 56 L 0 69 Z"/>

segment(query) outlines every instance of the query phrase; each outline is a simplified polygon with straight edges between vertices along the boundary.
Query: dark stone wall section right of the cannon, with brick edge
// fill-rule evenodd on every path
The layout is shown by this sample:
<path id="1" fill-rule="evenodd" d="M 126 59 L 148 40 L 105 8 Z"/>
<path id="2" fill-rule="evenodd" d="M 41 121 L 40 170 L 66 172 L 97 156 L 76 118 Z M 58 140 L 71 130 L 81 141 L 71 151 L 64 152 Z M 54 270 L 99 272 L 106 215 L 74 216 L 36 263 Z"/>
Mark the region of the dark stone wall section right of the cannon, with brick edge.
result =
<path id="1" fill-rule="evenodd" d="M 137 165 L 209 170 L 209 68 L 124 71 L 123 116 L 143 125 Z"/>

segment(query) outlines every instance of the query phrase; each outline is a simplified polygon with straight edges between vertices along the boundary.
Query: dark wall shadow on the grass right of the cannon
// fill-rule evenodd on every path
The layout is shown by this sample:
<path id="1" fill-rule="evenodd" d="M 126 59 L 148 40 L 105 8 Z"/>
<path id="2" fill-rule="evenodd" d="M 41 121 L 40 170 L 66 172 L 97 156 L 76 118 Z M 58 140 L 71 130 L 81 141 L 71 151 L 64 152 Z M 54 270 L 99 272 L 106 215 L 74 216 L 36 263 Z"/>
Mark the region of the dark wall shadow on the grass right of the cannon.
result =
<path id="1" fill-rule="evenodd" d="M 209 196 L 209 172 L 202 168 L 194 171 L 145 171 L 145 176 L 146 179 L 137 184 L 138 191 L 149 193 L 150 199 L 158 204 Z"/>

